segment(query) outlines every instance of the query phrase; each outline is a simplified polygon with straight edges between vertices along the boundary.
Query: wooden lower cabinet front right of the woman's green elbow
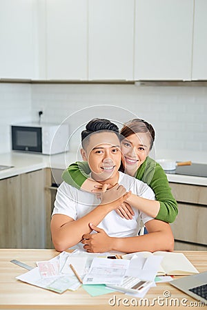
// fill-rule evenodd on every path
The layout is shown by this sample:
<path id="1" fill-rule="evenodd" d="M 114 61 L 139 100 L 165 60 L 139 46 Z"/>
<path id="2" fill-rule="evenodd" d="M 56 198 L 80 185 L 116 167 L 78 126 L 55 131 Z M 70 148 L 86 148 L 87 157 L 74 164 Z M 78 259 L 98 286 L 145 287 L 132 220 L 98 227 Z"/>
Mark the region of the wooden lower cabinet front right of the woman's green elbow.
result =
<path id="1" fill-rule="evenodd" d="M 207 250 L 207 187 L 170 183 L 178 203 L 178 215 L 171 224 L 175 250 Z"/>

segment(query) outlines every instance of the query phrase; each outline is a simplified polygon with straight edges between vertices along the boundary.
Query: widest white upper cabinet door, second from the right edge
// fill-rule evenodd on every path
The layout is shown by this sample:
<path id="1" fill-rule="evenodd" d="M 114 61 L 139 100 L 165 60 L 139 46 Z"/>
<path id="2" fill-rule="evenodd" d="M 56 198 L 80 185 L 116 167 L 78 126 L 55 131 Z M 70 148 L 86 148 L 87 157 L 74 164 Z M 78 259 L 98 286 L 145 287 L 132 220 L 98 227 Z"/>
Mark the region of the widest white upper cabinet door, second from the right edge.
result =
<path id="1" fill-rule="evenodd" d="M 189 81 L 192 46 L 193 0 L 135 0 L 135 80 Z"/>

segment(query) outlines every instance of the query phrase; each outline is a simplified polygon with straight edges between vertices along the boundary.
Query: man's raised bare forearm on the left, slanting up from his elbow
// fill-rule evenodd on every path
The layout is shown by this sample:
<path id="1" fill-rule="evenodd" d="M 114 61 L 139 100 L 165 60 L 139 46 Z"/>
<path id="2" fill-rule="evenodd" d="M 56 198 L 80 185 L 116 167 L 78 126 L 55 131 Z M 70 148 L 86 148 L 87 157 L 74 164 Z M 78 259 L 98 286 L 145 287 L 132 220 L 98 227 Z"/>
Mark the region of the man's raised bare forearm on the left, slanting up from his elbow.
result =
<path id="1" fill-rule="evenodd" d="M 81 241 L 83 234 L 89 234 L 92 229 L 89 227 L 89 223 L 99 225 L 101 220 L 112 211 L 112 207 L 109 204 L 99 205 L 90 213 L 86 214 L 78 220 L 72 220 L 63 224 L 56 229 L 52 234 L 52 241 L 57 251 L 64 251 L 68 247 L 77 245 Z"/>

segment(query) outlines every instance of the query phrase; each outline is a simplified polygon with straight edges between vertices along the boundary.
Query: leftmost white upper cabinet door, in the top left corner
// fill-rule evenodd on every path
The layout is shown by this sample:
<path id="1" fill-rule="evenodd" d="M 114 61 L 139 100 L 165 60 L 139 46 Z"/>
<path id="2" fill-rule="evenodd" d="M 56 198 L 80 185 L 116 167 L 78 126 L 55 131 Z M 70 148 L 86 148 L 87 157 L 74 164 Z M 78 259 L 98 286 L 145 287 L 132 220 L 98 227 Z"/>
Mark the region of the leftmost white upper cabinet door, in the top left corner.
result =
<path id="1" fill-rule="evenodd" d="M 35 0 L 0 0 L 0 79 L 37 77 Z"/>

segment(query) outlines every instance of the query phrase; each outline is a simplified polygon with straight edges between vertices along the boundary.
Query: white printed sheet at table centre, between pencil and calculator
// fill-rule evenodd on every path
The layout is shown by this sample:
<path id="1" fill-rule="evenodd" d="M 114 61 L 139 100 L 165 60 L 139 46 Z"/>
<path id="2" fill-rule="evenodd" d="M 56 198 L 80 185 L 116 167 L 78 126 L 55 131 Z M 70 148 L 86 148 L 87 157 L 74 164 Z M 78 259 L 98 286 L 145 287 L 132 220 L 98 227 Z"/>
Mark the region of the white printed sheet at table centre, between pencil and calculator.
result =
<path id="1" fill-rule="evenodd" d="M 128 269 L 129 260 L 110 260 L 94 258 L 89 272 L 83 278 L 83 284 L 114 284 L 119 285 Z"/>

